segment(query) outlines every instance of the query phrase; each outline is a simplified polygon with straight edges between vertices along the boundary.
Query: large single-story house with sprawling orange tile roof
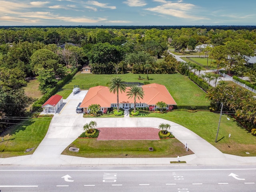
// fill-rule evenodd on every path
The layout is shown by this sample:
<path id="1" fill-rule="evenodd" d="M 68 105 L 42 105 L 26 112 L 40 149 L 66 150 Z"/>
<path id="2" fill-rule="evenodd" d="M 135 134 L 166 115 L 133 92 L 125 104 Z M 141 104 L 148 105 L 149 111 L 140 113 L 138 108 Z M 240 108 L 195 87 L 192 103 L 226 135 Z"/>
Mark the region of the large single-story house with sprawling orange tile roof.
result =
<path id="1" fill-rule="evenodd" d="M 168 107 L 177 105 L 171 94 L 164 85 L 147 84 L 141 86 L 144 91 L 143 99 L 136 98 L 136 107 L 150 107 L 157 108 L 157 102 L 165 102 Z M 128 88 L 126 89 L 128 91 Z M 84 113 L 89 113 L 88 107 L 92 104 L 99 104 L 100 110 L 108 110 L 111 107 L 117 107 L 117 95 L 111 93 L 106 86 L 96 86 L 88 90 L 80 107 L 84 108 Z M 167 108 L 168 108 L 167 107 Z M 128 98 L 126 92 L 119 91 L 119 108 L 130 109 L 134 108 L 134 98 Z"/>

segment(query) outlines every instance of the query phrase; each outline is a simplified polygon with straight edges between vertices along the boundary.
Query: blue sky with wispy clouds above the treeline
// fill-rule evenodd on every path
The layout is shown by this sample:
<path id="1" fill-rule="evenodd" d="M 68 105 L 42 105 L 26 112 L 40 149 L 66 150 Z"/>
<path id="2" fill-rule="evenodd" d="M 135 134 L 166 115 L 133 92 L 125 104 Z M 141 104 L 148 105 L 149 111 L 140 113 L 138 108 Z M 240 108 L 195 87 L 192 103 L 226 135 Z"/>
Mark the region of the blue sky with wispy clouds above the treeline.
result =
<path id="1" fill-rule="evenodd" d="M 0 26 L 256 25 L 256 0 L 0 0 Z"/>

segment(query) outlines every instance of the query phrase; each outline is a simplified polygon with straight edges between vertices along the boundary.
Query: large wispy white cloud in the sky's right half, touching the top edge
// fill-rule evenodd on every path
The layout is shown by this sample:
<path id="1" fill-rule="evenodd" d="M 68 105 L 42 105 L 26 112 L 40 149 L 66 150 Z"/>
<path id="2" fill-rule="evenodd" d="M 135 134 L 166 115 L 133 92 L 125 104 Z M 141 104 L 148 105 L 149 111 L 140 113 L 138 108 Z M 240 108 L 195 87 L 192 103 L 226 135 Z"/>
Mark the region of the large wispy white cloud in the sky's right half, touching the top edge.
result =
<path id="1" fill-rule="evenodd" d="M 153 8 L 146 8 L 145 10 L 157 12 L 159 14 L 170 15 L 178 18 L 185 18 L 185 19 L 193 19 L 193 20 L 201 20 L 201 19 L 208 19 L 193 16 L 190 11 L 192 11 L 196 6 L 190 3 L 181 3 L 182 1 L 178 1 L 173 3 L 172 1 L 166 0 L 154 0 L 156 2 L 163 3 L 162 5 L 153 7 Z"/>

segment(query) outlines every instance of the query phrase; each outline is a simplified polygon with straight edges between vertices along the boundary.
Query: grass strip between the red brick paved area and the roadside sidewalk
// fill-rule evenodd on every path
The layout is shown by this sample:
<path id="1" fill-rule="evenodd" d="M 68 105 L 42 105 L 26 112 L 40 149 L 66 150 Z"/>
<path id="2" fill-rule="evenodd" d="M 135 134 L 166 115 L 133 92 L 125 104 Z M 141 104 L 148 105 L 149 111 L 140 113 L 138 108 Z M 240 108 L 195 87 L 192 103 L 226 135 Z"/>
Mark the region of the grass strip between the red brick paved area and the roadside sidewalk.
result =
<path id="1" fill-rule="evenodd" d="M 69 147 L 76 147 L 80 150 L 78 153 L 70 152 Z M 154 151 L 149 151 L 149 147 L 153 147 Z M 175 138 L 153 141 L 98 141 L 96 138 L 78 138 L 62 154 L 86 158 L 154 158 L 184 156 L 193 154 L 193 152 L 186 152 L 184 145 Z"/>

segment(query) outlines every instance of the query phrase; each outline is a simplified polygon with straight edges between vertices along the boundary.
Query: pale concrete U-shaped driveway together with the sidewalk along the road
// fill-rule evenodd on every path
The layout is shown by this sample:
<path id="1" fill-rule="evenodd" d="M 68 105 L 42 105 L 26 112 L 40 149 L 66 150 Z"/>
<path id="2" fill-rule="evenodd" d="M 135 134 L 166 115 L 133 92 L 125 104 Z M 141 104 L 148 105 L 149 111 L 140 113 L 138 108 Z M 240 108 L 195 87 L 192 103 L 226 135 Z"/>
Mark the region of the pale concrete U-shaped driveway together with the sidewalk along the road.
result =
<path id="1" fill-rule="evenodd" d="M 244 164 L 256 163 L 256 157 L 239 157 L 220 152 L 203 138 L 188 130 L 184 126 L 161 118 L 130 118 L 126 112 L 124 118 L 83 118 L 76 114 L 75 109 L 86 91 L 79 96 L 64 100 L 61 111 L 54 115 L 48 132 L 38 148 L 32 155 L 0 158 L 0 164 L 12 165 L 170 165 L 175 158 L 80 158 L 76 156 L 61 155 L 62 151 L 70 145 L 84 131 L 83 126 L 94 120 L 97 127 L 152 127 L 158 128 L 161 123 L 171 125 L 170 131 L 183 144 L 194 152 L 192 155 L 182 156 L 180 161 L 187 164 Z M 185 148 L 184 148 L 185 150 Z"/>

